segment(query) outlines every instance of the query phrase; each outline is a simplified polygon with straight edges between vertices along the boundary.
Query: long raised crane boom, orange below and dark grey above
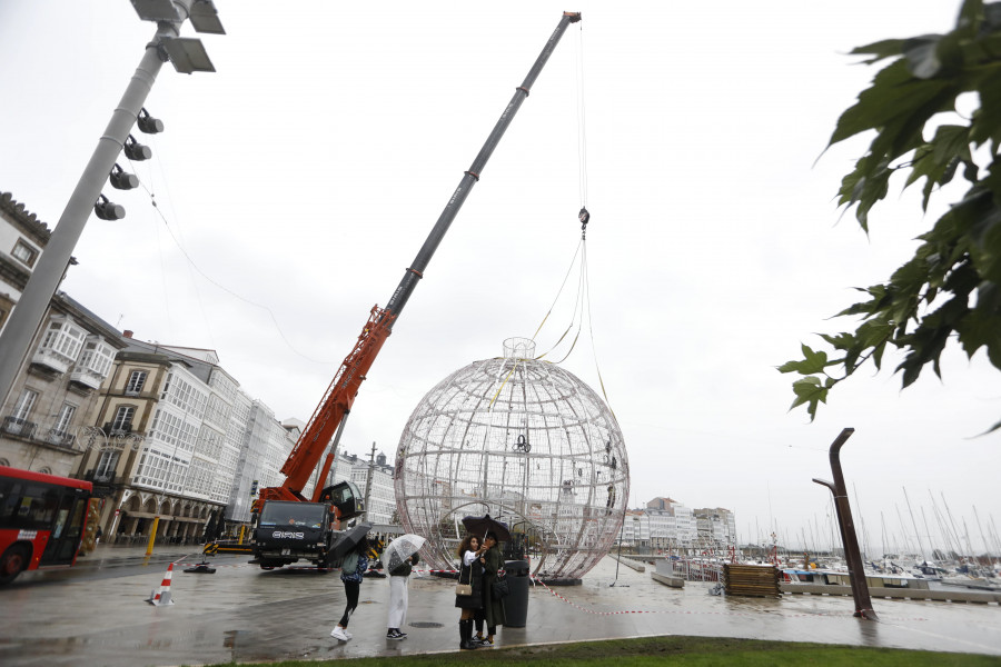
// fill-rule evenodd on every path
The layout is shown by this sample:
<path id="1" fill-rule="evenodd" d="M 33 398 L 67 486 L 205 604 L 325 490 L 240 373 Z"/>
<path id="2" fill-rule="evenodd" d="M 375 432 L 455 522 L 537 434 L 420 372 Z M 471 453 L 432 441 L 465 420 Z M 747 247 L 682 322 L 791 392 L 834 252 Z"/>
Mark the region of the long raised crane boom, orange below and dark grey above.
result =
<path id="1" fill-rule="evenodd" d="M 280 487 L 261 489 L 261 501 L 305 500 L 306 498 L 303 497 L 301 491 L 308 482 L 309 476 L 313 475 L 313 471 L 323 458 L 324 450 L 327 449 L 327 445 L 329 445 L 333 439 L 334 445 L 327 454 L 319 475 L 320 480 L 326 479 L 337 450 L 340 434 L 344 430 L 345 421 L 351 410 L 351 405 L 355 402 L 361 382 L 365 380 L 369 368 L 371 368 L 383 344 L 386 342 L 386 338 L 393 331 L 393 325 L 396 322 L 396 319 L 409 300 L 410 295 L 414 292 L 417 281 L 423 278 L 424 270 L 427 268 L 428 262 L 430 262 L 435 250 L 437 250 L 438 245 L 452 226 L 453 220 L 455 220 L 459 209 L 469 196 L 473 186 L 479 180 L 483 168 L 490 159 L 494 149 L 497 148 L 497 143 L 500 141 L 500 138 L 504 136 L 511 121 L 518 112 L 522 102 L 528 97 L 528 91 L 532 89 L 532 86 L 542 72 L 543 67 L 545 67 L 548 61 L 549 56 L 552 56 L 556 44 L 559 43 L 567 27 L 579 20 L 579 12 L 564 12 L 559 20 L 559 24 L 556 26 L 556 29 L 549 36 L 542 53 L 539 53 L 538 58 L 535 60 L 535 64 L 533 64 L 532 69 L 528 71 L 528 76 L 525 77 L 525 80 L 515 90 L 514 97 L 512 97 L 511 102 L 508 102 L 507 107 L 504 109 L 500 119 L 497 120 L 489 137 L 487 137 L 486 143 L 484 143 L 483 148 L 479 150 L 476 159 L 473 160 L 473 165 L 469 167 L 468 171 L 463 175 L 462 181 L 459 181 L 458 187 L 448 199 L 448 203 L 445 206 L 437 222 L 435 222 L 434 228 L 424 241 L 424 246 L 422 246 L 420 250 L 417 252 L 417 257 L 404 272 L 404 277 L 393 292 L 393 296 L 389 298 L 386 308 L 383 309 L 378 306 L 373 307 L 368 321 L 365 323 L 361 335 L 358 336 L 358 341 L 355 344 L 350 354 L 345 357 L 340 368 L 338 368 L 334 376 L 334 380 L 327 388 L 326 394 L 324 394 L 323 400 L 313 412 L 313 417 L 309 418 L 305 430 L 299 436 L 288 459 L 281 467 L 281 474 L 286 476 L 285 482 Z M 314 502 L 319 500 L 323 484 L 318 482 L 313 496 Z"/>

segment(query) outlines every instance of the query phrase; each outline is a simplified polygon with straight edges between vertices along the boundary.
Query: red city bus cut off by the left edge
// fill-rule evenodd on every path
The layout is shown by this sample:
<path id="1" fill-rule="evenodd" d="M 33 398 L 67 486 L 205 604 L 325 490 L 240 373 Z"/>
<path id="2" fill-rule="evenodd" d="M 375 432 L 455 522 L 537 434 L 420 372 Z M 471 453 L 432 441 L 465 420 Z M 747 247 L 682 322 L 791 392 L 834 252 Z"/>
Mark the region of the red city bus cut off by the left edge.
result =
<path id="1" fill-rule="evenodd" d="M 77 561 L 92 491 L 82 479 L 0 466 L 0 585 Z"/>

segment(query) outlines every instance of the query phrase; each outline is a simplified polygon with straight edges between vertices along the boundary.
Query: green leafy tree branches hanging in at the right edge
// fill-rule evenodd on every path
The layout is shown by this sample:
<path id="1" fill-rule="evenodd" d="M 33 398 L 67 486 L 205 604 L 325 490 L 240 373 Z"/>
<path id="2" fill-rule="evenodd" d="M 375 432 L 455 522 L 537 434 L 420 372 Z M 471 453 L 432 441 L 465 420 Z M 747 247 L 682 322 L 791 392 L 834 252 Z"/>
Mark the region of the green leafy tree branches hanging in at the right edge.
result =
<path id="1" fill-rule="evenodd" d="M 952 339 L 971 358 L 984 348 L 1001 369 L 1001 2 L 965 0 L 951 32 L 879 41 L 852 54 L 866 56 L 866 64 L 892 61 L 841 115 L 827 143 L 875 131 L 842 179 L 839 206 L 855 207 L 868 233 L 869 212 L 896 172 L 906 175 L 904 189 L 924 179 L 925 211 L 954 178 L 969 187 L 886 282 L 856 288 L 864 300 L 836 316 L 859 316 L 854 331 L 821 335 L 827 351 L 803 345 L 803 359 L 779 367 L 800 376 L 790 409 L 806 406 L 811 421 L 835 385 L 870 361 L 879 371 L 888 346 L 904 352 L 896 367 L 904 388 L 929 364 L 941 378 L 939 360 Z M 979 100 L 969 120 L 942 123 L 943 115 L 959 118 L 964 93 Z M 989 431 L 998 428 L 1001 421 Z"/>

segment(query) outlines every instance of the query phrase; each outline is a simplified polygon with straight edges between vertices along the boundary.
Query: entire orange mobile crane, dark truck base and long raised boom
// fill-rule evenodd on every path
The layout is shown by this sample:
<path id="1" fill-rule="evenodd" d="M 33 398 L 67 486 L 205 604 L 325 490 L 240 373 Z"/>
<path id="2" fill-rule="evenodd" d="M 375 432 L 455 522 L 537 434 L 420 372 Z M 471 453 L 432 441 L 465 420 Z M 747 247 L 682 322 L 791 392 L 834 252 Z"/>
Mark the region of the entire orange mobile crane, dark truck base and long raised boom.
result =
<path id="1" fill-rule="evenodd" d="M 361 514 L 363 508 L 357 487 L 350 482 L 341 482 L 324 488 L 321 482 L 330 471 L 330 465 L 336 456 L 337 445 L 344 432 L 347 416 L 351 411 L 351 405 L 355 402 L 361 382 L 376 356 L 392 332 L 394 322 L 410 298 L 417 281 L 424 276 L 424 270 L 432 256 L 448 231 L 466 197 L 469 196 L 473 186 L 479 180 L 483 168 L 505 130 L 522 102 L 528 97 L 532 84 L 542 72 L 567 27 L 579 20 L 579 12 L 564 12 L 559 24 L 549 36 L 528 76 L 515 90 L 514 97 L 494 126 L 494 130 L 479 155 L 476 156 L 472 167 L 465 172 L 458 187 L 452 193 L 445 210 L 438 217 L 438 221 L 424 241 L 416 259 L 404 273 L 403 280 L 393 292 L 386 308 L 373 307 L 368 321 L 365 323 L 361 335 L 358 336 L 358 341 L 341 362 L 323 400 L 313 412 L 313 417 L 309 418 L 305 430 L 281 467 L 281 474 L 286 476 L 285 482 L 281 486 L 261 489 L 260 497 L 255 504 L 258 521 L 250 540 L 255 555 L 255 560 L 251 563 L 259 563 L 262 568 L 294 563 L 299 558 L 311 560 L 320 566 L 329 564 L 334 559 L 337 550 L 335 546 L 341 535 L 339 522 Z M 313 497 L 307 499 L 303 495 L 303 489 L 324 457 L 324 450 L 328 445 L 330 445 L 329 451 L 317 478 L 320 481 L 317 482 Z M 308 508 L 301 505 L 296 506 L 301 502 L 323 507 L 316 508 L 310 517 L 304 518 L 304 511 Z M 335 508 L 339 521 L 331 516 L 335 514 Z M 320 520 L 315 526 L 317 521 L 314 519 L 317 517 Z M 316 534 L 315 530 L 319 530 L 319 534 Z"/>

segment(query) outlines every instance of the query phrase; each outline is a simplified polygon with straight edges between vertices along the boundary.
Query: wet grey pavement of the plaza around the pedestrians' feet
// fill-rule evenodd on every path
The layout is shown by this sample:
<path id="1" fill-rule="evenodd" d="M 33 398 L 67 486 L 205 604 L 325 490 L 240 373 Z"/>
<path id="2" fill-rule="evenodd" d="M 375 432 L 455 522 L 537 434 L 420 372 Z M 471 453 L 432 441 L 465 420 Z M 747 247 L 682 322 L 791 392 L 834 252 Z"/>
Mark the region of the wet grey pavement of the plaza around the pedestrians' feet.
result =
<path id="1" fill-rule="evenodd" d="M 402 641 L 387 640 L 389 584 L 366 578 L 349 630 L 330 629 L 344 609 L 336 571 L 261 571 L 246 556 L 211 560 L 216 574 L 187 574 L 200 560 L 178 547 L 101 546 L 69 570 L 24 573 L 0 589 L 0 664 L 133 667 L 334 659 L 453 651 L 458 648 L 454 580 L 410 577 Z M 172 606 L 145 600 L 171 561 Z M 614 585 L 613 585 L 614 584 Z M 1001 656 L 1001 608 L 914 600 L 873 600 L 880 621 L 852 616 L 851 597 L 780 599 L 710 595 L 603 559 L 582 586 L 529 591 L 525 628 L 498 628 L 498 646 L 660 635 L 743 637 L 974 653 Z M 480 649 L 488 650 L 488 649 Z"/>

